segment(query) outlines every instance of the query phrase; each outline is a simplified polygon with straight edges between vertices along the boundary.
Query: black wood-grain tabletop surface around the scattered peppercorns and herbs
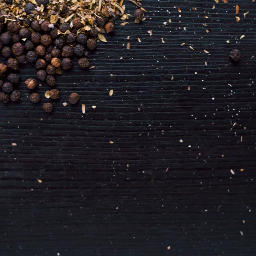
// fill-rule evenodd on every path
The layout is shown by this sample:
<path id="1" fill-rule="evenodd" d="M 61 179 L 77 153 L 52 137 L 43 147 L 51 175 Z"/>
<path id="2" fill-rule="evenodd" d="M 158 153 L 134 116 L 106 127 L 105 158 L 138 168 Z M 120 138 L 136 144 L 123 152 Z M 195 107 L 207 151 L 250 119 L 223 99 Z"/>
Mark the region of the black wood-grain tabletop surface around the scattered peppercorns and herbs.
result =
<path id="1" fill-rule="evenodd" d="M 0 254 L 255 255 L 255 4 L 144 1 L 147 20 L 117 20 L 89 53 L 95 68 L 58 76 L 51 114 L 22 67 L 22 100 L 0 106 Z"/>

